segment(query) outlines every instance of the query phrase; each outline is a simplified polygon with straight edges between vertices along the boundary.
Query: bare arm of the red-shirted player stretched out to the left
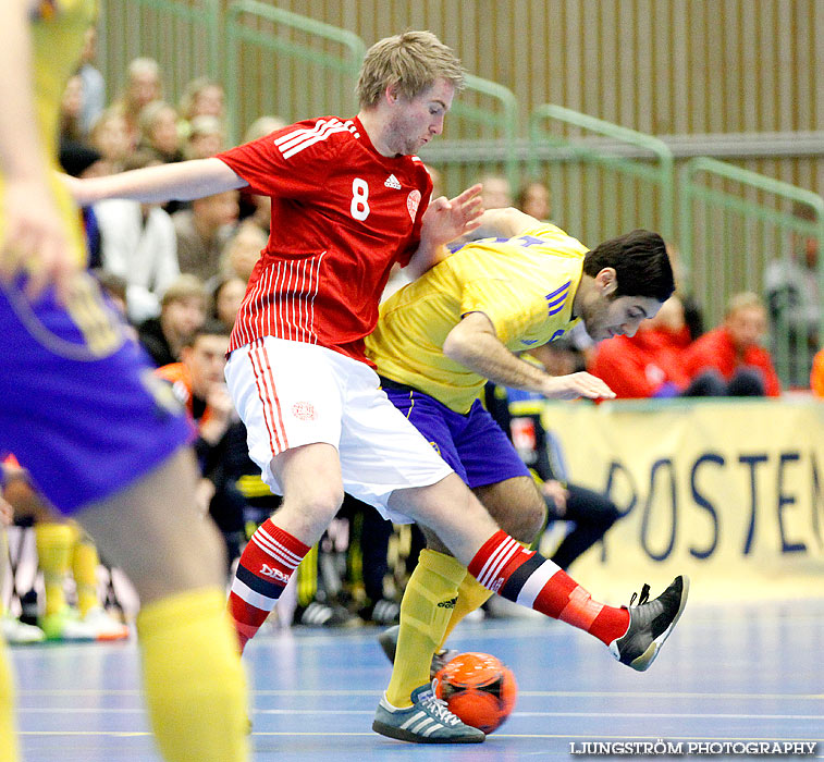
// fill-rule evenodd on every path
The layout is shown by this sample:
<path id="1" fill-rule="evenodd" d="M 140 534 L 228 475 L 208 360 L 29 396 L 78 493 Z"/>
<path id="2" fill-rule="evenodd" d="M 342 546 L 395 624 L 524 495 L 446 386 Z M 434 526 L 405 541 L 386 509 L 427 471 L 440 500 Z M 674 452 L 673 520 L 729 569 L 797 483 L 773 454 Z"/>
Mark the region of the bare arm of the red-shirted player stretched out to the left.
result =
<path id="1" fill-rule="evenodd" d="M 74 200 L 88 206 L 104 198 L 128 198 L 146 204 L 213 196 L 248 183 L 220 159 L 193 159 L 147 167 L 104 177 L 77 180 L 61 175 Z"/>

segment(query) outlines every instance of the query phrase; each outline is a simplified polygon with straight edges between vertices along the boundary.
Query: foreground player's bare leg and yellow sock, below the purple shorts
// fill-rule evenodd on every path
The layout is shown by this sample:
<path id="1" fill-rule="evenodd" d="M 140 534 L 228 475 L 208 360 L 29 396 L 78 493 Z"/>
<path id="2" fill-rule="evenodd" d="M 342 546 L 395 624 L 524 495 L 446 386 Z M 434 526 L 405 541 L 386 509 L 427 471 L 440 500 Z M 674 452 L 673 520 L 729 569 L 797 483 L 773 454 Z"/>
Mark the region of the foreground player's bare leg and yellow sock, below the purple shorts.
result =
<path id="1" fill-rule="evenodd" d="M 222 543 L 198 515 L 196 478 L 194 458 L 180 451 L 76 518 L 140 597 L 146 697 L 164 758 L 239 762 L 245 678 L 225 617 Z"/>

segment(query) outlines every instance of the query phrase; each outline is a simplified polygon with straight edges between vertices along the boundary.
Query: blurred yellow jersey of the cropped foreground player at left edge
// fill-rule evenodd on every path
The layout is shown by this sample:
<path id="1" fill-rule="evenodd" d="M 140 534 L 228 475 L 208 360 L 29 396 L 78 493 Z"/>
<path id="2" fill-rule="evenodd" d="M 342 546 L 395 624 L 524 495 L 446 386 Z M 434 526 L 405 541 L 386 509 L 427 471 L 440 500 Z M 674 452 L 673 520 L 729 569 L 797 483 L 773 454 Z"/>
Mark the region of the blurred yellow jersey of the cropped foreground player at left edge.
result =
<path id="1" fill-rule="evenodd" d="M 65 84 L 77 67 L 83 50 L 83 36 L 94 23 L 96 0 L 41 0 L 32 12 L 32 41 L 34 47 L 34 90 L 36 125 L 21 124 L 21 130 L 36 128 L 48 151 L 49 164 L 59 169 L 58 128 L 60 101 Z M 0 194 L 4 192 L 0 173 Z M 86 247 L 79 224 L 77 207 L 63 184 L 52 177 L 52 188 L 65 220 L 72 249 L 78 262 L 86 261 Z M 0 208 L 0 235 L 2 234 Z"/>

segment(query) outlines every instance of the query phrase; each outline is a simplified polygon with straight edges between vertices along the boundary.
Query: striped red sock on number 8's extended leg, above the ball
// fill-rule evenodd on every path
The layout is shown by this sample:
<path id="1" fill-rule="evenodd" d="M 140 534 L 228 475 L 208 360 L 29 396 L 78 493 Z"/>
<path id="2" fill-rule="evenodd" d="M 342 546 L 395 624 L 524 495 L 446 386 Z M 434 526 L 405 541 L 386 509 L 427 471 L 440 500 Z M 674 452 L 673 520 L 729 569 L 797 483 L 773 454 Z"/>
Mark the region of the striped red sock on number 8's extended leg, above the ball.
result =
<path id="1" fill-rule="evenodd" d="M 502 530 L 483 543 L 469 563 L 469 573 L 503 598 L 586 630 L 607 646 L 629 627 L 626 609 L 593 601 L 557 564 Z"/>

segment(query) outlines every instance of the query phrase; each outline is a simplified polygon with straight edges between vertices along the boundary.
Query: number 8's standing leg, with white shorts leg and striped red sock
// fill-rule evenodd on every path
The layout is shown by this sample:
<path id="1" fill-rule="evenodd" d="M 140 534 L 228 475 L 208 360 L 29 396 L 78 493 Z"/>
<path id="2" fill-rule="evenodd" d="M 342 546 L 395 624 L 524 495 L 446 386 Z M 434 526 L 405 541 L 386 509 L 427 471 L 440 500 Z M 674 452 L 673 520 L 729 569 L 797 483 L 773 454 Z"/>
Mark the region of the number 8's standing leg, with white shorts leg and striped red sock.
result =
<path id="1" fill-rule="evenodd" d="M 226 364 L 249 455 L 263 481 L 283 495 L 274 515 L 251 536 L 232 581 L 229 611 L 241 649 L 343 501 L 337 444 L 346 382 L 336 376 L 336 354 L 267 336 L 235 349 Z"/>

